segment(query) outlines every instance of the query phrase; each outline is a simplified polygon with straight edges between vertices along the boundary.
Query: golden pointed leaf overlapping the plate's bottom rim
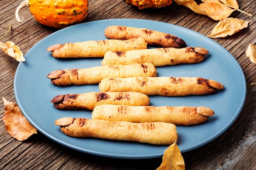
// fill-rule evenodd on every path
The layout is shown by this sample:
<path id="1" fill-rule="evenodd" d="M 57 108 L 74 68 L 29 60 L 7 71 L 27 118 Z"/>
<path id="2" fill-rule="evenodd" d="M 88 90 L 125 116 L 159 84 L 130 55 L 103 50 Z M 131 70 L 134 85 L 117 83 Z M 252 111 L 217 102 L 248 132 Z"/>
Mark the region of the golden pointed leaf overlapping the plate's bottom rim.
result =
<path id="1" fill-rule="evenodd" d="M 157 170 L 185 170 L 185 163 L 175 141 L 165 151 L 161 165 Z"/>

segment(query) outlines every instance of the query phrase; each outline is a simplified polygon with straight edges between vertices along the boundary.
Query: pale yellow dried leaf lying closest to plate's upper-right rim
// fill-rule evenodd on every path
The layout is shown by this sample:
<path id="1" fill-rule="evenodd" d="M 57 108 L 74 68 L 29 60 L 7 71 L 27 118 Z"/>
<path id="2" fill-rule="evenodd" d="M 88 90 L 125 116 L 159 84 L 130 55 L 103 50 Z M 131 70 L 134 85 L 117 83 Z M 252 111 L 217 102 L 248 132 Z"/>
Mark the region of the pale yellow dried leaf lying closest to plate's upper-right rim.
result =
<path id="1" fill-rule="evenodd" d="M 220 20 L 218 24 L 213 28 L 209 38 L 224 38 L 231 36 L 243 28 L 248 27 L 248 23 L 252 21 L 244 21 L 238 18 L 225 18 Z"/>

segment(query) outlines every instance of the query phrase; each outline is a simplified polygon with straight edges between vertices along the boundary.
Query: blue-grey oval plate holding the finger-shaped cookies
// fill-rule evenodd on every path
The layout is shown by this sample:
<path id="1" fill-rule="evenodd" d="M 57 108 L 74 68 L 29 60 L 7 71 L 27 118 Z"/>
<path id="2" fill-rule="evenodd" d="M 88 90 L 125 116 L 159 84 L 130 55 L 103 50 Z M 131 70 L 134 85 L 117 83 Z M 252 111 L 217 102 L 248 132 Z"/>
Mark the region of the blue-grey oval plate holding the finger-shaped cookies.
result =
<path id="1" fill-rule="evenodd" d="M 157 67 L 157 76 L 197 76 L 225 85 L 216 94 L 203 96 L 163 97 L 150 96 L 155 106 L 205 106 L 215 115 L 206 123 L 189 127 L 177 126 L 178 146 L 181 152 L 198 148 L 225 132 L 236 120 L 245 102 L 246 82 L 240 65 L 234 57 L 215 41 L 189 29 L 164 22 L 137 19 L 110 19 L 87 22 L 56 31 L 43 38 L 25 55 L 26 61 L 18 65 L 14 78 L 16 101 L 34 127 L 50 139 L 68 148 L 102 157 L 119 159 L 150 159 L 162 157 L 167 145 L 150 145 L 128 141 L 79 139 L 66 136 L 54 124 L 61 117 L 85 117 L 90 111 L 57 110 L 50 102 L 59 94 L 99 92 L 97 85 L 57 87 L 47 74 L 57 69 L 86 68 L 101 65 L 103 58 L 54 58 L 47 47 L 66 42 L 106 40 L 104 30 L 110 25 L 148 28 L 173 34 L 186 41 L 187 46 L 209 50 L 202 63 Z"/>

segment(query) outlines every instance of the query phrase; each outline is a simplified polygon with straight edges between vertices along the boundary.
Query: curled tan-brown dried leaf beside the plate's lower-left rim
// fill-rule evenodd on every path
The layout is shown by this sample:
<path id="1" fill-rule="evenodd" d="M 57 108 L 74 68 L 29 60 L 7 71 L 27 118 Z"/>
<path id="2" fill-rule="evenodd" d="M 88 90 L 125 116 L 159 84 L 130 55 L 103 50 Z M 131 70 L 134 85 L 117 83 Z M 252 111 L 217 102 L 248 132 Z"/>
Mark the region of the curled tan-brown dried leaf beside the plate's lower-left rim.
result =
<path id="1" fill-rule="evenodd" d="M 32 126 L 20 111 L 17 104 L 7 101 L 4 97 L 3 121 L 7 132 L 18 141 L 25 141 L 32 134 L 37 134 L 36 128 Z"/>

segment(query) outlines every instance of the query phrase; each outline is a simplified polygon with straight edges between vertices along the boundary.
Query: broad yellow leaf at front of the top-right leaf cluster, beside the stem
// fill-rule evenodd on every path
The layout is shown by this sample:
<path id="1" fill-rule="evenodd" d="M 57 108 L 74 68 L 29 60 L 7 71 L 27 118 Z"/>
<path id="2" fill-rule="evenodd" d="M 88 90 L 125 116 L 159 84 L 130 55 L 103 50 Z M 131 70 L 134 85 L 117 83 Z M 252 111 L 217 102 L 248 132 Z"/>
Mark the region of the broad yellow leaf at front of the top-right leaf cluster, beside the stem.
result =
<path id="1" fill-rule="evenodd" d="M 207 16 L 213 20 L 223 20 L 229 17 L 232 12 L 236 11 L 236 9 L 231 9 L 214 2 L 201 3 L 198 7 L 204 10 L 207 13 Z"/>

